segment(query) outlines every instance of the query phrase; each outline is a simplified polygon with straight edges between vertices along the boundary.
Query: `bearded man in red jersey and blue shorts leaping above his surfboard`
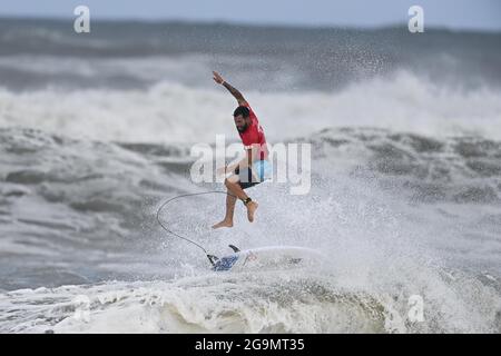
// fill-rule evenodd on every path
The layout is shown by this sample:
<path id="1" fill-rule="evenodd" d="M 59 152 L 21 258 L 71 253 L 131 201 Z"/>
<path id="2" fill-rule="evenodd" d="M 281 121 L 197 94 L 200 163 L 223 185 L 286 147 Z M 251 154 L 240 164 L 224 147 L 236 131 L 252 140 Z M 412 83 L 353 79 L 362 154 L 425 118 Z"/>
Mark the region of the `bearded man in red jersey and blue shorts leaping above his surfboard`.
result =
<path id="1" fill-rule="evenodd" d="M 238 102 L 233 117 L 246 151 L 245 158 L 239 162 L 218 169 L 218 174 L 230 172 L 232 175 L 225 179 L 228 192 L 226 195 L 226 215 L 223 221 L 213 226 L 213 228 L 217 229 L 233 226 L 233 214 L 237 198 L 247 208 L 248 220 L 250 222 L 254 221 L 257 201 L 250 199 L 244 189 L 262 182 L 266 175 L 269 174 L 271 166 L 263 128 L 247 100 L 237 89 L 226 82 L 218 72 L 213 71 L 213 75 L 214 81 L 225 87 Z"/>

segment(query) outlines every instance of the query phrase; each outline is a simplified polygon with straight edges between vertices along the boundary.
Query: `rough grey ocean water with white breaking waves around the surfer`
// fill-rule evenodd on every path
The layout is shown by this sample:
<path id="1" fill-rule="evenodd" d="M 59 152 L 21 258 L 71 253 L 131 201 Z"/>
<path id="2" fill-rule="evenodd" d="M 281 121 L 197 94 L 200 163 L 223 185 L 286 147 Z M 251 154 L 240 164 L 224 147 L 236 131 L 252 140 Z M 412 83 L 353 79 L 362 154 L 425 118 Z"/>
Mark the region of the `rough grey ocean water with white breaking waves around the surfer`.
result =
<path id="1" fill-rule="evenodd" d="M 1 333 L 500 333 L 501 34 L 0 20 Z M 312 189 L 161 211 L 216 255 L 315 248 L 321 269 L 213 273 L 156 221 L 193 145 L 238 141 L 220 71 Z M 423 320 L 409 315 L 423 300 Z"/>

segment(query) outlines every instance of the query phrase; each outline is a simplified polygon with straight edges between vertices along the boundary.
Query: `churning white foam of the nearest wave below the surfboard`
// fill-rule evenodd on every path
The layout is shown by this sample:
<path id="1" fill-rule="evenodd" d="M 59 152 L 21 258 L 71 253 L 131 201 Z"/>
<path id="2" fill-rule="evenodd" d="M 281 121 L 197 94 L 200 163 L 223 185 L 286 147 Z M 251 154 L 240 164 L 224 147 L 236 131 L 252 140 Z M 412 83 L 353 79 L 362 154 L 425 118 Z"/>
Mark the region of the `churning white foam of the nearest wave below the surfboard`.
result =
<path id="1" fill-rule="evenodd" d="M 356 287 L 318 271 L 212 274 L 0 294 L 2 333 L 472 333 L 495 332 L 500 300 L 474 281 L 414 266 L 405 286 Z M 360 277 L 351 274 L 354 279 Z M 392 270 L 389 275 L 394 277 Z M 345 276 L 344 276 L 345 277 Z M 374 276 L 373 276 L 374 277 Z M 389 279 L 386 279 L 387 281 Z M 380 284 L 381 287 L 381 284 Z M 391 288 L 390 288 L 391 287 Z M 463 289 L 462 289 L 463 288 Z M 477 291 L 475 291 L 477 290 Z M 423 322 L 409 296 L 424 295 Z M 499 330 L 498 330 L 499 332 Z"/>

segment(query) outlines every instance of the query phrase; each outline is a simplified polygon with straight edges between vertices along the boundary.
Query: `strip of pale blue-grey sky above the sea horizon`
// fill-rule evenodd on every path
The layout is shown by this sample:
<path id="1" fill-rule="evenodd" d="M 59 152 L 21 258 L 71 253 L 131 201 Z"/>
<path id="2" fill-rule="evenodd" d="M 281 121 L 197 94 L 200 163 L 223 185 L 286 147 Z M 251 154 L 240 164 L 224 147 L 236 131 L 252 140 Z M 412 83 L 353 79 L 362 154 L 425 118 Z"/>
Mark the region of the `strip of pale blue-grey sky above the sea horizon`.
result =
<path id="1" fill-rule="evenodd" d="M 352 27 L 406 22 L 409 8 L 419 4 L 425 27 L 501 31 L 501 0 L 2 0 L 0 16 L 73 18 L 79 4 L 91 19 Z"/>

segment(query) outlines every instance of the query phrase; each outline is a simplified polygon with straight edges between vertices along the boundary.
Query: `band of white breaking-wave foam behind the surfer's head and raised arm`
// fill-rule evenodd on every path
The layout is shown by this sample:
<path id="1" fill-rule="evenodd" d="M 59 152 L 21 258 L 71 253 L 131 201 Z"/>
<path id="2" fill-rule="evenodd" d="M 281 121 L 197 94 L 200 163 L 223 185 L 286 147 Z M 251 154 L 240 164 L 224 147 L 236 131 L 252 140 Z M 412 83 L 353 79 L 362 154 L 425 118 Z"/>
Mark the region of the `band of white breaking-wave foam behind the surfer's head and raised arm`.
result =
<path id="1" fill-rule="evenodd" d="M 209 79 L 207 79 L 209 80 Z M 401 71 L 338 92 L 245 92 L 268 140 L 307 136 L 326 127 L 380 127 L 428 136 L 501 139 L 501 91 L 438 87 Z M 143 142 L 238 139 L 234 100 L 224 88 L 161 82 L 147 90 L 0 91 L 0 125 L 71 137 Z"/>

